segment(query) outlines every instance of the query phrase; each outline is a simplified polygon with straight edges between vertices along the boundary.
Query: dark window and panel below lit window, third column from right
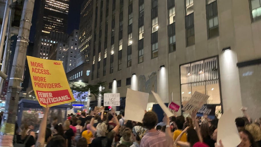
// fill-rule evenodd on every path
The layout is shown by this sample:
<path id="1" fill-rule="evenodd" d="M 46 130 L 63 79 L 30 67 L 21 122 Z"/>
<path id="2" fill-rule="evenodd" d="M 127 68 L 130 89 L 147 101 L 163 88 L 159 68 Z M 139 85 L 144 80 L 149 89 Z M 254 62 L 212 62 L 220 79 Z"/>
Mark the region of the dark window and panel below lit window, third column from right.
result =
<path id="1" fill-rule="evenodd" d="M 194 13 L 185 16 L 186 46 L 195 44 Z"/>

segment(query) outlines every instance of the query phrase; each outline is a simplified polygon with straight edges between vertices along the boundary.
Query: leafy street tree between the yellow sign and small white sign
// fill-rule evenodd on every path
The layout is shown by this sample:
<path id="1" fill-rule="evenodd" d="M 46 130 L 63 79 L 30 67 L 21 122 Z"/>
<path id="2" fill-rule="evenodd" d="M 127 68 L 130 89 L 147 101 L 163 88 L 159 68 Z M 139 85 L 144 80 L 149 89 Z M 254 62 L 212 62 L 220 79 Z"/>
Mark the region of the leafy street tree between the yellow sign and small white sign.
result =
<path id="1" fill-rule="evenodd" d="M 79 93 L 84 93 L 86 91 L 89 91 L 90 90 L 90 94 L 89 97 L 92 97 L 94 96 L 95 98 L 95 101 L 96 101 L 96 105 L 97 105 L 97 102 L 98 102 L 98 96 L 99 95 L 103 95 L 104 93 L 109 93 L 109 91 L 105 91 L 105 90 L 99 90 L 100 86 L 101 87 L 105 87 L 105 85 L 107 84 L 107 82 L 97 82 L 95 85 L 86 85 L 86 86 L 76 86 L 76 85 L 72 85 L 72 88 L 71 90 L 74 90 L 74 91 L 78 91 Z"/>

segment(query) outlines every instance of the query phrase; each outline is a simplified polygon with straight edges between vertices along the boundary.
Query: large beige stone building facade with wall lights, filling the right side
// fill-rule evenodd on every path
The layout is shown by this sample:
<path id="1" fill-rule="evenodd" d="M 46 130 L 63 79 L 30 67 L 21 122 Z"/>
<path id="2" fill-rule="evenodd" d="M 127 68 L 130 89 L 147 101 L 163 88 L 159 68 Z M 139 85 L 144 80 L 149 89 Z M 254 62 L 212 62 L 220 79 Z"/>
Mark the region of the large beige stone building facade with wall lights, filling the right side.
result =
<path id="1" fill-rule="evenodd" d="M 261 112 L 260 9 L 257 0 L 98 0 L 89 83 L 107 81 L 121 97 L 155 91 L 179 105 L 198 91 L 217 115 L 241 115 L 242 105 Z M 148 108 L 155 102 L 150 94 Z"/>

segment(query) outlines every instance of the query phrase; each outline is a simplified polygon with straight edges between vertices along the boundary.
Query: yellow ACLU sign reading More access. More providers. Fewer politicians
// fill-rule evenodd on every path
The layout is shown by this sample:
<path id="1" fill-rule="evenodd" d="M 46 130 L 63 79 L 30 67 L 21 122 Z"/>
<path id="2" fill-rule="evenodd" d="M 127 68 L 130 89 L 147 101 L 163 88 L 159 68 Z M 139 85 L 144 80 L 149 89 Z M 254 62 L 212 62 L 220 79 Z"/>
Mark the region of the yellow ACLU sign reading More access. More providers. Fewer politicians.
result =
<path id="1" fill-rule="evenodd" d="M 61 61 L 26 56 L 34 93 L 39 104 L 46 107 L 75 101 Z"/>

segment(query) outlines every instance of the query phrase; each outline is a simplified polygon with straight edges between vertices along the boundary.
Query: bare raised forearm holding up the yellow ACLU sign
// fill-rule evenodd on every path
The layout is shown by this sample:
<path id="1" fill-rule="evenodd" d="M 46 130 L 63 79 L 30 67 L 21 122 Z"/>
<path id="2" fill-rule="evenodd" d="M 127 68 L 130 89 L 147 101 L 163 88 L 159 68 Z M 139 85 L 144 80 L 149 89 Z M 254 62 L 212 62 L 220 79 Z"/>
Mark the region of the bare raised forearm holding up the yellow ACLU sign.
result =
<path id="1" fill-rule="evenodd" d="M 45 108 L 43 119 L 41 121 L 40 127 L 39 127 L 39 133 L 38 138 L 35 143 L 35 147 L 43 147 L 45 142 L 45 130 L 46 130 L 46 124 L 47 124 L 47 115 L 49 112 L 48 105 Z"/>

